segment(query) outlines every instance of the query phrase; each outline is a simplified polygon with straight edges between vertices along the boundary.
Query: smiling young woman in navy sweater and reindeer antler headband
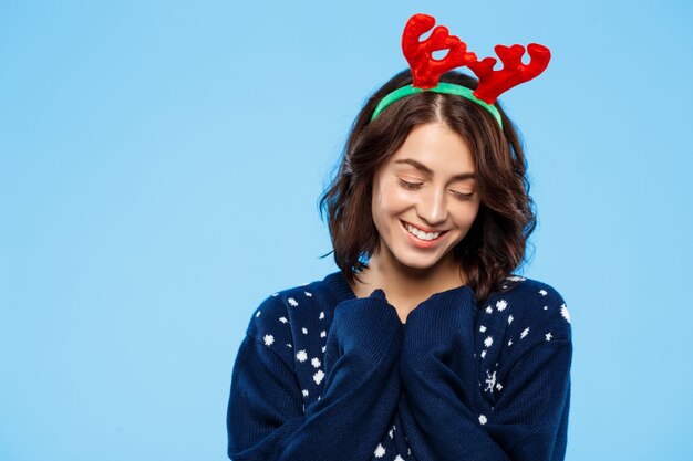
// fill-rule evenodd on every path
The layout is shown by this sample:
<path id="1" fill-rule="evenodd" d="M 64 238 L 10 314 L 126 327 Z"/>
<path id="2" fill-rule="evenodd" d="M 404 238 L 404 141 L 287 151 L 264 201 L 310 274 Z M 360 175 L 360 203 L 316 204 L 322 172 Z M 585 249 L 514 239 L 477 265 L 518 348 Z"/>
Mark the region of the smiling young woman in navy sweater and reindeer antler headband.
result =
<path id="1" fill-rule="evenodd" d="M 444 44 L 453 67 L 497 72 L 444 28 L 418 42 L 433 23 L 410 20 L 405 53 L 415 36 L 430 63 Z M 548 64 L 541 51 L 532 61 Z M 412 67 L 364 105 L 321 199 L 340 271 L 273 293 L 250 319 L 231 460 L 565 457 L 570 317 L 550 285 L 513 274 L 536 218 L 497 81 L 449 71 L 432 83 Z"/>

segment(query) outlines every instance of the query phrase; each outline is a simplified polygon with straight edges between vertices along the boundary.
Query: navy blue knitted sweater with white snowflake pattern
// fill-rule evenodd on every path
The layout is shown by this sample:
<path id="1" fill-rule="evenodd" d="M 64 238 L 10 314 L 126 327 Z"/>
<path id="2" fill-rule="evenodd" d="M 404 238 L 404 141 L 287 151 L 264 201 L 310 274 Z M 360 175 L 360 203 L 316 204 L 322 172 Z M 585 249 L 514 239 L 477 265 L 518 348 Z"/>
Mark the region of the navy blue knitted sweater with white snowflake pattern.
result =
<path id="1" fill-rule="evenodd" d="M 341 272 L 252 314 L 227 413 L 235 461 L 562 460 L 570 316 L 551 286 L 510 276 L 477 307 L 463 285 L 403 324 Z"/>

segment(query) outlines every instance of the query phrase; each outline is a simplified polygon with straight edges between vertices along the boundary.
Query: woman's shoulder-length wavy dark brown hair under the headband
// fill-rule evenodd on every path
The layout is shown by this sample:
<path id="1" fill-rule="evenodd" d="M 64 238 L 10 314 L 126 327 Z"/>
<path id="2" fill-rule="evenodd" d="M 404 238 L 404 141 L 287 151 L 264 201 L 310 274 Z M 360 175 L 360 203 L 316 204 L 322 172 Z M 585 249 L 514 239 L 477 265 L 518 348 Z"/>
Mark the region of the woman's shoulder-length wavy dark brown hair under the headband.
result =
<path id="1" fill-rule="evenodd" d="M 478 81 L 452 71 L 441 82 L 476 88 Z M 535 203 L 529 196 L 527 161 L 517 128 L 498 102 L 503 129 L 478 104 L 456 95 L 421 92 L 392 103 L 373 122 L 377 103 L 390 92 L 412 83 L 402 71 L 377 90 L 359 112 L 337 175 L 319 200 L 328 226 L 334 261 L 345 279 L 359 280 L 377 250 L 380 238 L 371 214 L 375 172 L 402 146 L 417 125 L 443 123 L 469 145 L 476 165 L 479 211 L 464 239 L 452 250 L 480 305 L 492 292 L 509 290 L 506 280 L 526 260 L 528 238 L 536 227 Z"/>

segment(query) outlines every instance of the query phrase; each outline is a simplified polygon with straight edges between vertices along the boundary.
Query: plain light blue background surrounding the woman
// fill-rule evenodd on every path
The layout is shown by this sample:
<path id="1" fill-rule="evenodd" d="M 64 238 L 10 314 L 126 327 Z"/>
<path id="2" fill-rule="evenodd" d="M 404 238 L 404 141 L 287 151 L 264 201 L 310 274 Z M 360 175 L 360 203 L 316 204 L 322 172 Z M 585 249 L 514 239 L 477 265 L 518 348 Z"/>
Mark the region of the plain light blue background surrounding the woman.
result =
<path id="1" fill-rule="evenodd" d="M 570 308 L 568 460 L 690 460 L 687 1 L 0 2 L 0 459 L 224 460 L 236 350 L 337 270 L 317 200 L 427 12 L 479 56 Z"/>

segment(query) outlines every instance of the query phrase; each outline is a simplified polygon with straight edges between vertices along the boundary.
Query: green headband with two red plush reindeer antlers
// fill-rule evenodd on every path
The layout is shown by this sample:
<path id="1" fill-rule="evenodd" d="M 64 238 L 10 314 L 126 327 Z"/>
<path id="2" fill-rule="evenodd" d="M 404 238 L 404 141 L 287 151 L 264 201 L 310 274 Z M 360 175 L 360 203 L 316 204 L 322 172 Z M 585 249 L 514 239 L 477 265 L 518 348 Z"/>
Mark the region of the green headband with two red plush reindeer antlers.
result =
<path id="1" fill-rule="evenodd" d="M 523 64 L 525 46 L 518 44 L 513 46 L 496 45 L 494 50 L 500 57 L 500 61 L 503 61 L 503 69 L 494 71 L 495 57 L 485 57 L 482 61 L 477 61 L 476 54 L 467 52 L 466 43 L 457 36 L 451 35 L 444 25 L 433 29 L 431 36 L 420 42 L 420 36 L 430 31 L 433 25 L 435 25 L 435 18 L 421 13 L 414 14 L 406 22 L 402 33 L 402 51 L 412 69 L 414 82 L 383 97 L 375 111 L 373 111 L 371 122 L 395 101 L 423 91 L 430 91 L 455 94 L 474 101 L 490 112 L 503 128 L 500 113 L 494 106 L 494 103 L 501 93 L 520 83 L 528 82 L 544 72 L 551 59 L 549 49 L 538 43 L 528 44 L 527 52 L 531 61 L 529 64 Z M 442 60 L 434 60 L 433 52 L 442 50 L 449 51 Z M 478 77 L 479 83 L 476 90 L 453 83 L 438 83 L 442 74 L 464 65 L 469 67 Z"/>

